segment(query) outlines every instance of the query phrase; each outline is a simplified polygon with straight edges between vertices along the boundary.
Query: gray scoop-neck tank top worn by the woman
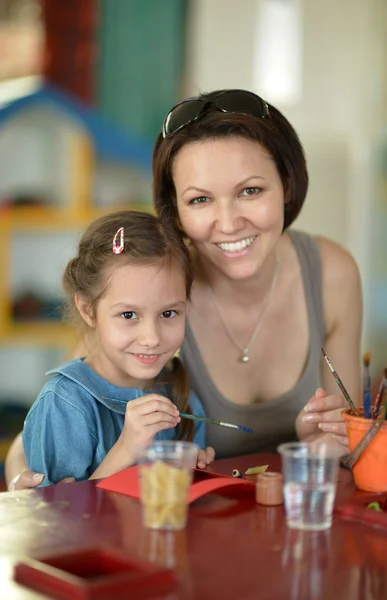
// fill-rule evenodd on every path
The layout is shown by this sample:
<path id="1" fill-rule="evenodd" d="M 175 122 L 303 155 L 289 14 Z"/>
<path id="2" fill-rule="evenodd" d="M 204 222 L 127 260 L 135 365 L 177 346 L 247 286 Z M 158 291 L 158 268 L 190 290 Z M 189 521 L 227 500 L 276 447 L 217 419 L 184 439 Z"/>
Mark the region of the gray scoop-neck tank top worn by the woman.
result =
<path id="1" fill-rule="evenodd" d="M 317 242 L 299 231 L 288 231 L 301 266 L 309 322 L 309 354 L 295 387 L 282 396 L 262 404 L 241 406 L 222 396 L 203 362 L 189 322 L 181 348 L 191 389 L 201 399 L 207 416 L 251 427 L 254 433 L 207 425 L 207 444 L 217 458 L 253 452 L 274 452 L 278 444 L 297 439 L 298 413 L 318 387 L 321 387 L 320 359 L 325 327 L 322 304 L 321 262 Z"/>

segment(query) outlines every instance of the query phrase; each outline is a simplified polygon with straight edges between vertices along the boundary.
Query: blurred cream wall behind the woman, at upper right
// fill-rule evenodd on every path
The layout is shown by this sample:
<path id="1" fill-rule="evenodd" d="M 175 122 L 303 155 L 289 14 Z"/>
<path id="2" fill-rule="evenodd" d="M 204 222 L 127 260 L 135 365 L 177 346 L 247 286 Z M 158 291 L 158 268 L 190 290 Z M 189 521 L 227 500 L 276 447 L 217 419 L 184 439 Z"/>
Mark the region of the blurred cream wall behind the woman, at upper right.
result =
<path id="1" fill-rule="evenodd" d="M 226 87 L 260 92 L 254 57 L 263 2 L 191 3 L 185 94 Z M 310 189 L 296 227 L 343 244 L 357 260 L 363 343 L 379 370 L 387 364 L 382 300 L 387 301 L 387 166 L 380 160 L 387 117 L 387 2 L 299 0 L 299 5 L 302 94 L 295 104 L 275 103 L 299 133 L 308 159 Z"/>

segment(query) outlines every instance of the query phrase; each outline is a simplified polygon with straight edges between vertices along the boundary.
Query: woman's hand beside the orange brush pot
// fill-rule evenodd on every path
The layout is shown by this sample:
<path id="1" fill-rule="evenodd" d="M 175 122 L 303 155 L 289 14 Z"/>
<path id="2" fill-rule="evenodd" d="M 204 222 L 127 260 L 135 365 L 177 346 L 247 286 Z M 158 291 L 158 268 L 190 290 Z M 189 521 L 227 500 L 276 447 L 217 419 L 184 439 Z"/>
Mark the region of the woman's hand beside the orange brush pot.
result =
<path id="1" fill-rule="evenodd" d="M 341 412 L 348 408 L 340 394 L 328 395 L 319 388 L 297 417 L 296 431 L 301 441 L 338 442 L 348 451 L 347 430 Z M 333 438 L 333 439 L 332 439 Z"/>

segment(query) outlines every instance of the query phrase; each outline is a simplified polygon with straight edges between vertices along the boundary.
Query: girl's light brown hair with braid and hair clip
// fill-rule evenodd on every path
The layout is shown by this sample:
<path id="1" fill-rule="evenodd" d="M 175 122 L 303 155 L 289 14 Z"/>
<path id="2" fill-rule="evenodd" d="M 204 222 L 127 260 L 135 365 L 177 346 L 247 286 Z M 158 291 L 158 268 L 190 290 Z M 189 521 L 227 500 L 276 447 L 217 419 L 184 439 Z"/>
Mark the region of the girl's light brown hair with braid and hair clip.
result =
<path id="1" fill-rule="evenodd" d="M 124 251 L 115 255 L 113 238 L 121 227 L 125 233 Z M 63 287 L 68 298 L 66 315 L 82 329 L 86 339 L 90 329 L 78 312 L 75 295 L 90 306 L 95 318 L 97 304 L 107 289 L 107 273 L 111 266 L 139 263 L 178 266 L 184 275 L 189 299 L 192 264 L 181 232 L 172 221 L 127 210 L 103 216 L 89 225 L 79 242 L 77 256 L 70 260 L 63 274 Z M 179 412 L 189 413 L 188 378 L 178 358 L 172 359 L 171 371 L 159 381 L 171 385 Z M 193 433 L 193 422 L 183 419 L 179 424 L 179 438 L 191 440 Z"/>

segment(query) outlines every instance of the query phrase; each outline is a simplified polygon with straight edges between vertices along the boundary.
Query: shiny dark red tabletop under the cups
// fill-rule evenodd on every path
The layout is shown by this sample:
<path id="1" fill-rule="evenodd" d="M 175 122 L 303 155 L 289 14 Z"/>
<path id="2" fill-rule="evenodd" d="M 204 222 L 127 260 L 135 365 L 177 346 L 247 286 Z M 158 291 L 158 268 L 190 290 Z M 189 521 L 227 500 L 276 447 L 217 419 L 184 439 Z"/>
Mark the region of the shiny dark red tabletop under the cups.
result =
<path id="1" fill-rule="evenodd" d="M 280 470 L 273 454 L 219 460 L 209 470 L 261 464 Z M 341 470 L 336 502 L 354 494 L 361 492 L 351 473 Z M 260 506 L 251 494 L 207 495 L 191 505 L 186 530 L 157 532 L 142 527 L 137 500 L 85 481 L 0 494 L 0 527 L 5 600 L 44 598 L 13 581 L 18 560 L 101 544 L 172 567 L 181 583 L 158 596 L 166 600 L 387 598 L 387 529 L 336 515 L 329 530 L 291 530 L 283 506 Z"/>

